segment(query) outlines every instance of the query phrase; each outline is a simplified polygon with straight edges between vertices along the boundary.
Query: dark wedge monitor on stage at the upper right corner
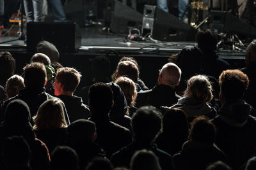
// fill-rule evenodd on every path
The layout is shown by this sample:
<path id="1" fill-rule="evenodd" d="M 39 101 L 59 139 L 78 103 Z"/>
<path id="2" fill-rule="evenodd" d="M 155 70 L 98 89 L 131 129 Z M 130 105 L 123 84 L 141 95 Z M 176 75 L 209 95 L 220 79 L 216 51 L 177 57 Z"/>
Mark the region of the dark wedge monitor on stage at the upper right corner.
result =
<path id="1" fill-rule="evenodd" d="M 216 34 L 230 32 L 243 36 L 256 37 L 256 29 L 249 24 L 239 20 L 227 11 L 211 11 L 210 27 Z"/>

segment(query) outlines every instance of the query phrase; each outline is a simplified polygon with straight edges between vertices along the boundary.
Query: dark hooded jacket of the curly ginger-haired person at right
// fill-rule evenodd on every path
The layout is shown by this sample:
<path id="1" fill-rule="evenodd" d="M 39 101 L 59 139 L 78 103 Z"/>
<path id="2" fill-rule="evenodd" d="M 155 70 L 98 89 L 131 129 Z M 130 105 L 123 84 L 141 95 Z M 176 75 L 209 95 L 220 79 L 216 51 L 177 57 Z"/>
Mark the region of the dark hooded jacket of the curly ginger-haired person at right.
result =
<path id="1" fill-rule="evenodd" d="M 223 150 L 233 169 L 243 166 L 255 152 L 256 118 L 250 104 L 242 99 L 226 101 L 212 122 L 216 126 L 216 145 Z"/>

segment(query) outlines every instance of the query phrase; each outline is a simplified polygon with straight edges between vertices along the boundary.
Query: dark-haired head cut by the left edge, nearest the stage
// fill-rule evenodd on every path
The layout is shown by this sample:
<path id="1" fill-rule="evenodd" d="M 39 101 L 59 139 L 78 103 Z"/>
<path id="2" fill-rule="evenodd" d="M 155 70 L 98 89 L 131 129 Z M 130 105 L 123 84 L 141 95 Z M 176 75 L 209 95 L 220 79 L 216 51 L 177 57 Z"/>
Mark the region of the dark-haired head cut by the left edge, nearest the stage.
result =
<path id="1" fill-rule="evenodd" d="M 0 85 L 4 86 L 15 72 L 15 59 L 10 52 L 0 52 Z"/>

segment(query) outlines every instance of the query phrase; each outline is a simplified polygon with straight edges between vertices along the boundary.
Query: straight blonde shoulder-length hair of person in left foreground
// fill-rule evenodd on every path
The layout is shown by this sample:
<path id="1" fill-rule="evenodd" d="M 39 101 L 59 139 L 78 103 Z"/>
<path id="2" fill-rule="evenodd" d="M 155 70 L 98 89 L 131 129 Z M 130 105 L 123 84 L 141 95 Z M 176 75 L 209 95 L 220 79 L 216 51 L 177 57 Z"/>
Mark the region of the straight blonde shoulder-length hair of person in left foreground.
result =
<path id="1" fill-rule="evenodd" d="M 60 99 L 49 99 L 41 104 L 33 120 L 35 130 L 67 127 Z"/>

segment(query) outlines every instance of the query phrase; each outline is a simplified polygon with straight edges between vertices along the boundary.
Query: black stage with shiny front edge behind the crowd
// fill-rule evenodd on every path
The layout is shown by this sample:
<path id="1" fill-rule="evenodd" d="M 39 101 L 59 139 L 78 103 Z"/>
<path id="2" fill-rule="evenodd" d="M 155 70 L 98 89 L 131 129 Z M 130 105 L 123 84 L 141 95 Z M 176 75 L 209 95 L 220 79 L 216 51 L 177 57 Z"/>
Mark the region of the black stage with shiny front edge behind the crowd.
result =
<path id="1" fill-rule="evenodd" d="M 76 67 L 83 74 L 81 86 L 87 85 L 91 78 L 92 58 L 97 55 L 107 55 L 111 61 L 111 73 L 121 57 L 134 57 L 140 64 L 140 77 L 151 88 L 156 83 L 158 70 L 168 62 L 170 55 L 179 53 L 185 46 L 196 45 L 193 41 L 164 42 L 154 39 L 129 41 L 127 34 L 102 31 L 102 27 L 102 24 L 98 23 L 80 28 L 82 38 L 79 50 L 74 53 L 60 52 L 60 62 L 63 66 Z M 19 31 L 19 26 L 15 25 L 8 35 L 0 37 L 0 51 L 12 53 L 16 60 L 16 73 L 21 74 L 22 67 L 29 62 L 33 53 L 26 50 L 24 40 L 15 40 L 19 38 L 17 31 Z M 26 25 L 24 33 L 26 34 Z M 3 43 L 4 41 L 8 42 Z M 227 60 L 232 68 L 244 66 L 245 49 L 218 50 L 217 53 L 221 59 Z"/>

